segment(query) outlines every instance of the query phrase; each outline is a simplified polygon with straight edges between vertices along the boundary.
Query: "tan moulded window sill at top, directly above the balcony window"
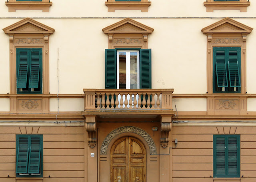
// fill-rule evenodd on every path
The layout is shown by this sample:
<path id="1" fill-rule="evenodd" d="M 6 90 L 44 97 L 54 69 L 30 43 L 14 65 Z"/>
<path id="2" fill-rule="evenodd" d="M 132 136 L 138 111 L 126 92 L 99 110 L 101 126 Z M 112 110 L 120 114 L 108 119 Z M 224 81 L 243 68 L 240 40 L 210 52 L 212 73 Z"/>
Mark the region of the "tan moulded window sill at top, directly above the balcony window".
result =
<path id="1" fill-rule="evenodd" d="M 141 10 L 141 12 L 148 12 L 148 7 L 151 2 L 105 2 L 108 6 L 108 12 L 115 12 L 115 10 Z"/>

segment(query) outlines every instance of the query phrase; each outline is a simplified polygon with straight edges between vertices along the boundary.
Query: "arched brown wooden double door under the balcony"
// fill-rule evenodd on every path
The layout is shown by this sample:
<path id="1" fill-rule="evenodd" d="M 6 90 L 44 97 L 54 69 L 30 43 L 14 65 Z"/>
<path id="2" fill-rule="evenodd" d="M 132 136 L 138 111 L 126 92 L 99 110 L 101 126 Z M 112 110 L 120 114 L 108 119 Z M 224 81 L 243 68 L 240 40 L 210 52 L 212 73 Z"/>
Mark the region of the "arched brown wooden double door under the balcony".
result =
<path id="1" fill-rule="evenodd" d="M 146 149 L 140 140 L 120 138 L 110 155 L 111 182 L 146 182 Z"/>

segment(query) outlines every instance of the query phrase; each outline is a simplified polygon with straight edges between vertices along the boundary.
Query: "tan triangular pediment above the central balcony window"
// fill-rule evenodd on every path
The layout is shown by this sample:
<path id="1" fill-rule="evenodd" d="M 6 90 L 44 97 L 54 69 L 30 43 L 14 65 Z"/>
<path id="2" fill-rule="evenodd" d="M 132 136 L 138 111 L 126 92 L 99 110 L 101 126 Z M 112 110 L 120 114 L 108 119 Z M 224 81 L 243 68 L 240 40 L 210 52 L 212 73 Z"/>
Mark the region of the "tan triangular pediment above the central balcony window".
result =
<path id="1" fill-rule="evenodd" d="M 120 22 L 107 26 L 102 29 L 104 33 L 149 33 L 151 34 L 154 29 L 141 24 L 131 18 L 126 18 Z"/>

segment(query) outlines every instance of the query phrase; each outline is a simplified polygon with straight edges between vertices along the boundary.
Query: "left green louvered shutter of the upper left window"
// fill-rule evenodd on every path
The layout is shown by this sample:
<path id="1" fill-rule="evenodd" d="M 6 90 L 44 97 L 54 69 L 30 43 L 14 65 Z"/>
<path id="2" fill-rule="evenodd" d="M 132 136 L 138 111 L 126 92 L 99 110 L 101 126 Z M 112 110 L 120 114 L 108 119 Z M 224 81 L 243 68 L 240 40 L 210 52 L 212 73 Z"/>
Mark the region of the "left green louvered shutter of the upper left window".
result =
<path id="1" fill-rule="evenodd" d="M 17 49 L 17 88 L 27 87 L 28 59 L 28 49 Z"/>

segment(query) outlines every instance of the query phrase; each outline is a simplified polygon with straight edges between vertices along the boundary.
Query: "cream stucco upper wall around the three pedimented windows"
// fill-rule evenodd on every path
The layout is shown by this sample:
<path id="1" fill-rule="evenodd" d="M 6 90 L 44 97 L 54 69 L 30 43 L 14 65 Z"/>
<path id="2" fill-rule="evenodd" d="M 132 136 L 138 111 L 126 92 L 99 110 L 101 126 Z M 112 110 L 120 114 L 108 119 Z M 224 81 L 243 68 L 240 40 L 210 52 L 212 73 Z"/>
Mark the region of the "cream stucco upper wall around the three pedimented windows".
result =
<path id="1" fill-rule="evenodd" d="M 108 36 L 102 32 L 102 28 L 130 17 L 154 28 L 154 32 L 148 38 L 148 48 L 152 49 L 152 88 L 174 88 L 174 94 L 204 94 L 207 92 L 206 35 L 202 34 L 201 29 L 225 17 L 232 17 L 238 22 L 256 28 L 256 18 L 252 18 L 255 10 L 254 2 L 248 6 L 247 12 L 206 12 L 202 0 L 175 3 L 152 0 L 148 12 L 108 12 L 104 0 L 54 0 L 50 12 L 8 12 L 7 6 L 2 2 L 0 29 L 22 20 L 21 17 L 34 18 L 54 28 L 55 32 L 49 41 L 50 93 L 81 94 L 83 88 L 105 88 L 104 49 L 108 48 Z M 247 37 L 248 94 L 256 93 L 254 31 Z M 0 31 L 0 40 L 0 94 L 6 94 L 10 92 L 9 37 Z M 74 110 L 81 110 L 82 99 L 75 100 L 74 103 L 79 103 L 79 106 Z M 175 102 L 181 104 L 180 107 L 186 111 L 194 110 L 193 107 L 182 104 L 183 100 L 178 99 Z M 200 104 L 200 111 L 206 110 L 205 99 L 196 102 Z M 51 111 L 56 111 L 56 99 L 51 99 L 50 105 Z M 63 110 L 72 110 L 65 107 Z"/>

